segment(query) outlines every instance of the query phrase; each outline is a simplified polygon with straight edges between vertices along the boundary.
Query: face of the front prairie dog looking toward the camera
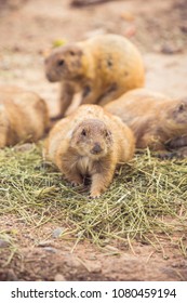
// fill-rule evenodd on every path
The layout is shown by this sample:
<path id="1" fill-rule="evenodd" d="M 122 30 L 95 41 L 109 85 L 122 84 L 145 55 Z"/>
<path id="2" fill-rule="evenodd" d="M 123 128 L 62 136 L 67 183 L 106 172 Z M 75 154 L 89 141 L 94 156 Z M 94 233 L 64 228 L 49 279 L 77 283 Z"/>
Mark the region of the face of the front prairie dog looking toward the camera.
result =
<path id="1" fill-rule="evenodd" d="M 70 146 L 75 148 L 80 156 L 98 160 L 111 150 L 112 135 L 103 121 L 88 119 L 75 129 Z"/>

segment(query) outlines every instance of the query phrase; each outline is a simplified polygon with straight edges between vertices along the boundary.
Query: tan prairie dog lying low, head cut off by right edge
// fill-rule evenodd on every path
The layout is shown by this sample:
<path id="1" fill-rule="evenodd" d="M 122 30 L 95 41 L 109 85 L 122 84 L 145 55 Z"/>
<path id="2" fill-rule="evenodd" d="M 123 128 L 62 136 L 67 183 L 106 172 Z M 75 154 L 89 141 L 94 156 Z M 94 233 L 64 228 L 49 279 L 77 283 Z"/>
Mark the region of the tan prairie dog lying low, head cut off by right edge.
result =
<path id="1" fill-rule="evenodd" d="M 120 117 L 133 130 L 137 148 L 165 150 L 170 145 L 181 147 L 182 141 L 185 145 L 185 100 L 173 100 L 160 93 L 136 89 L 107 104 L 105 109 Z"/>

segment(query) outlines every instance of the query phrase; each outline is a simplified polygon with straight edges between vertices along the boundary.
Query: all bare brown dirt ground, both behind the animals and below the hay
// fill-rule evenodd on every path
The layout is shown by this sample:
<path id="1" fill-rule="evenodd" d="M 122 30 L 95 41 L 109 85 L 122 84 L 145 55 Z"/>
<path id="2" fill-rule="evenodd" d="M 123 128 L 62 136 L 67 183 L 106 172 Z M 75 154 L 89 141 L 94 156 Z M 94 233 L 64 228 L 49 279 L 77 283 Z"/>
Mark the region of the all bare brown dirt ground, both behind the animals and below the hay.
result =
<path id="1" fill-rule="evenodd" d="M 187 96 L 186 0 L 109 1 L 71 8 L 69 0 L 0 2 L 0 84 L 16 84 L 46 100 L 58 111 L 58 85 L 44 77 L 43 56 L 57 41 L 116 32 L 141 50 L 146 87 L 171 96 Z M 1 215 L 0 232 L 14 232 L 16 253 L 8 260 L 0 241 L 0 280 L 187 280 L 187 258 L 164 239 L 164 250 L 134 241 L 133 249 L 112 242 L 75 246 L 45 223 L 31 228 L 13 214 Z M 173 235 L 173 241 L 179 235 Z M 14 247 L 12 248 L 14 252 Z"/>

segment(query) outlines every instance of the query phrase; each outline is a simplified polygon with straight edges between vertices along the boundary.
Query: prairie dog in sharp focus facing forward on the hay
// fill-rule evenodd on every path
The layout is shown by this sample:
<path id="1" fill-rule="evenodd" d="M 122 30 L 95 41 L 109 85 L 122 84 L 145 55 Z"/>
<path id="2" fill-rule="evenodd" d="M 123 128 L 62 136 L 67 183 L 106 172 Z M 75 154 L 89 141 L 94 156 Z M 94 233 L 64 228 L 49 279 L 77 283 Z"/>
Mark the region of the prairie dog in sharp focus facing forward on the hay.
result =
<path id="1" fill-rule="evenodd" d="M 44 156 L 72 185 L 91 179 L 91 197 L 99 197 L 118 163 L 134 154 L 134 135 L 121 119 L 97 105 L 81 105 L 51 130 Z"/>

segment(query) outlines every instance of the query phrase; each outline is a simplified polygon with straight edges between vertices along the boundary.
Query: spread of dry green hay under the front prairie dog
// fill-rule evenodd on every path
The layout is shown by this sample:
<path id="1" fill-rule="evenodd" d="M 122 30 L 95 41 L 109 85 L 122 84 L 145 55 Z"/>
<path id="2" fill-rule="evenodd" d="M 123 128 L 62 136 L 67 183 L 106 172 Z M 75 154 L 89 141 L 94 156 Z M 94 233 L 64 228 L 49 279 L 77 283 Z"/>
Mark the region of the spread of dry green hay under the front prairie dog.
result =
<path id="1" fill-rule="evenodd" d="M 0 215 L 14 213 L 40 227 L 54 222 L 65 227 L 62 237 L 75 246 L 88 238 L 98 246 L 133 239 L 159 247 L 158 235 L 172 239 L 182 233 L 178 248 L 186 255 L 187 159 L 160 160 L 149 150 L 122 166 L 108 190 L 89 198 L 89 187 L 72 187 L 56 168 L 43 162 L 42 144 L 31 149 L 0 150 Z"/>

